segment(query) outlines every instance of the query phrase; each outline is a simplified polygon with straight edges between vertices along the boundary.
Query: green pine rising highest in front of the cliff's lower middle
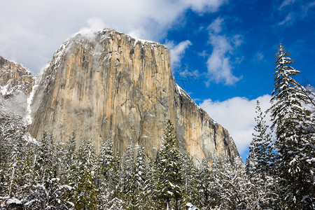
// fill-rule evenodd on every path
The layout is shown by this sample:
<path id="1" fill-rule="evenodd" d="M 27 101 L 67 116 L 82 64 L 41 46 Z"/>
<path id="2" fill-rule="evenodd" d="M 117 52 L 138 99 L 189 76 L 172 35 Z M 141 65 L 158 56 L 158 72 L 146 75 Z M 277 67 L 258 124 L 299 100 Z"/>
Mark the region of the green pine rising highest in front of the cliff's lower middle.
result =
<path id="1" fill-rule="evenodd" d="M 158 197 L 165 201 L 165 206 L 169 209 L 172 199 L 175 201 L 175 209 L 179 207 L 183 192 L 183 174 L 181 173 L 182 160 L 179 150 L 176 148 L 176 137 L 174 125 L 168 120 L 165 128 L 165 137 L 156 157 L 157 166 L 157 193 Z"/>

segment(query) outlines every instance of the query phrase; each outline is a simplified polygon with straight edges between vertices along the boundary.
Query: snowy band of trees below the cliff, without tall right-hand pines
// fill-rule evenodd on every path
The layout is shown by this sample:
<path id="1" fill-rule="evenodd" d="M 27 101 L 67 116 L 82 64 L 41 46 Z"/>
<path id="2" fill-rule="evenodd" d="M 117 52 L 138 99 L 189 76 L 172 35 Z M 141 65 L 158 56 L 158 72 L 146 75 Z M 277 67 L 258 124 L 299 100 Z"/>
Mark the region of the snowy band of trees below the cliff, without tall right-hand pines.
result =
<path id="1" fill-rule="evenodd" d="M 174 126 L 167 123 L 155 160 L 131 141 L 120 158 L 113 141 L 103 141 L 99 154 L 91 140 L 76 148 L 43 133 L 37 142 L 1 139 L 1 207 L 6 209 L 246 209 L 274 204 L 273 186 L 260 186 L 246 176 L 244 164 L 206 160 L 195 167 L 176 146 Z"/>

